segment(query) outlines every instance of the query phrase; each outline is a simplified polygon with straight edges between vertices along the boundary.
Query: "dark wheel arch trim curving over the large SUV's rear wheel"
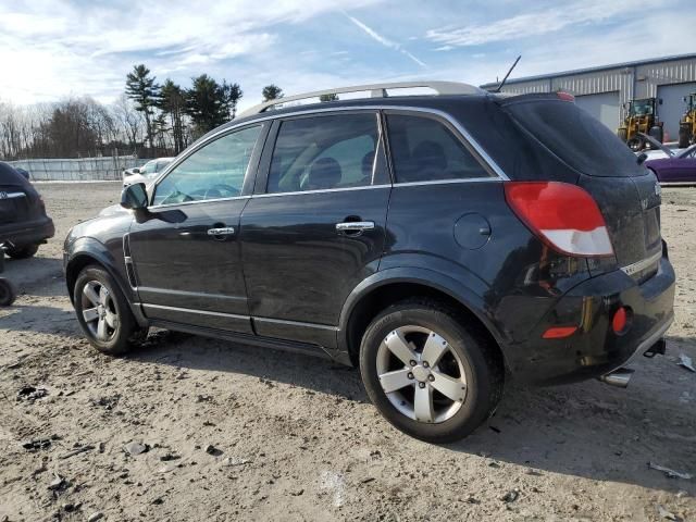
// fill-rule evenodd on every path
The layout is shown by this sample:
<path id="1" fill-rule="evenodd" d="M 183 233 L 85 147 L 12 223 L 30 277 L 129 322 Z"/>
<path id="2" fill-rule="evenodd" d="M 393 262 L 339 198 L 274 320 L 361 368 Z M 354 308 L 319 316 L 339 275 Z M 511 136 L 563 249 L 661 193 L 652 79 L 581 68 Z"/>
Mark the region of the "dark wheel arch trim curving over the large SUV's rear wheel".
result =
<path id="1" fill-rule="evenodd" d="M 391 303 L 412 297 L 437 299 L 457 309 L 467 318 L 468 326 L 475 328 L 496 349 L 507 368 L 504 337 L 485 316 L 484 298 L 448 275 L 427 269 L 389 269 L 377 272 L 356 288 L 341 312 L 339 350 L 348 353 L 357 366 L 360 339 L 372 319 Z"/>

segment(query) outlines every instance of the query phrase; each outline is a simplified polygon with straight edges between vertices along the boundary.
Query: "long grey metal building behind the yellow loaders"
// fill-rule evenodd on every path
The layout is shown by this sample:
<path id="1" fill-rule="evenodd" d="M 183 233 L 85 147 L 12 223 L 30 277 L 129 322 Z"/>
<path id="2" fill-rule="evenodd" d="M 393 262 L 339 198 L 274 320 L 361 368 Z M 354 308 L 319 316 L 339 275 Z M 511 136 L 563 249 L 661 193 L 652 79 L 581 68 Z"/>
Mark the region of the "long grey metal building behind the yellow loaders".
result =
<path id="1" fill-rule="evenodd" d="M 497 84 L 482 85 L 493 89 Z M 664 122 L 664 140 L 676 140 L 684 113 L 683 98 L 696 92 L 696 54 L 682 54 L 543 76 L 508 79 L 504 92 L 556 92 L 575 96 L 575 102 L 612 130 L 623 119 L 624 103 L 658 98 L 658 116 Z"/>

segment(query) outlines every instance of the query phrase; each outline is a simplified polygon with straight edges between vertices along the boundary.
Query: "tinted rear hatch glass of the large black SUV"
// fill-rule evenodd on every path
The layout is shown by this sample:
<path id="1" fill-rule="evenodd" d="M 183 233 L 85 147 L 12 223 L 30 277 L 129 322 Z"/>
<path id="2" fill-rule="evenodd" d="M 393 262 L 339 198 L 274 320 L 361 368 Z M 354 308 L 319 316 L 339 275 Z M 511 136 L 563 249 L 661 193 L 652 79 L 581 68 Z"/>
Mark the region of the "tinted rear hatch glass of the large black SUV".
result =
<path id="1" fill-rule="evenodd" d="M 646 170 L 607 126 L 562 100 L 510 100 L 513 120 L 572 169 L 588 176 L 641 176 Z"/>

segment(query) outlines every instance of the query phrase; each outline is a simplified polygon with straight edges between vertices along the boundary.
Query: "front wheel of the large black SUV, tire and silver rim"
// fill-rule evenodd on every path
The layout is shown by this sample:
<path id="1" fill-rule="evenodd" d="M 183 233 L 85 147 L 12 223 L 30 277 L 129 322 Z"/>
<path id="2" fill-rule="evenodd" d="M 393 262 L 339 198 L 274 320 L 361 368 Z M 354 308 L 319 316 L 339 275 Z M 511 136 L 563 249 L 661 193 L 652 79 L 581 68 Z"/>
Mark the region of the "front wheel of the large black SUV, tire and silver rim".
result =
<path id="1" fill-rule="evenodd" d="M 110 356 L 125 353 L 147 334 L 138 326 L 113 277 L 102 268 L 83 269 L 73 291 L 77 321 L 99 351 Z"/>

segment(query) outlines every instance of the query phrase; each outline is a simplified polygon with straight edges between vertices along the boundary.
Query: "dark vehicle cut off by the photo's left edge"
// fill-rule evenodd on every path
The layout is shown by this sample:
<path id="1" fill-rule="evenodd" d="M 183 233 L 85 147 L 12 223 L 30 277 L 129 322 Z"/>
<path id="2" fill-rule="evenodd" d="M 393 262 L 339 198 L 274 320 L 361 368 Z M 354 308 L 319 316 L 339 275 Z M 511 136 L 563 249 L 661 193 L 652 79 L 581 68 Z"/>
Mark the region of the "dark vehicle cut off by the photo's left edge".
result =
<path id="1" fill-rule="evenodd" d="M 11 258 L 30 258 L 53 237 L 53 222 L 26 176 L 0 161 L 0 244 Z"/>

